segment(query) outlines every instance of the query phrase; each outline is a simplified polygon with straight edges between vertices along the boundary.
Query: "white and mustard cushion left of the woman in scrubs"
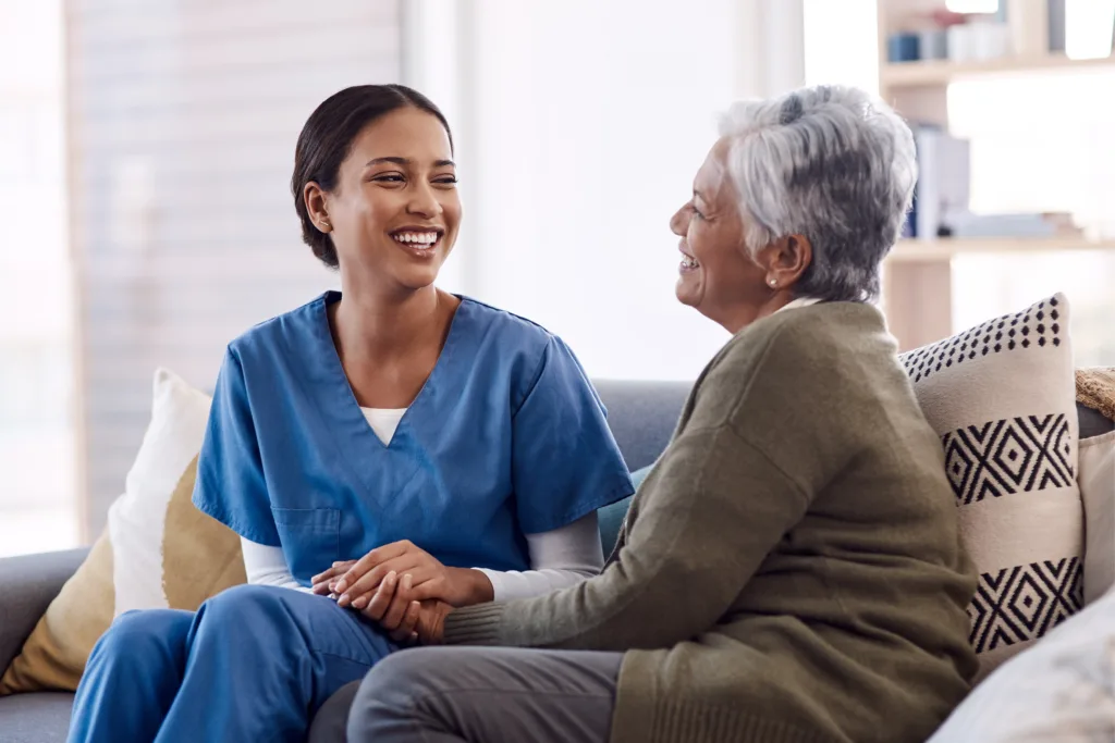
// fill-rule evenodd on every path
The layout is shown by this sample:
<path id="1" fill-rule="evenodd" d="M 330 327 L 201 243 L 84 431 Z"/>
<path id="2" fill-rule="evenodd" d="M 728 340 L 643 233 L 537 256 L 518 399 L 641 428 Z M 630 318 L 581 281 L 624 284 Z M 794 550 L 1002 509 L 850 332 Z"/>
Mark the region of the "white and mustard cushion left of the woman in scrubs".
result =
<path id="1" fill-rule="evenodd" d="M 191 501 L 210 398 L 166 370 L 154 387 L 151 424 L 108 527 L 0 678 L 0 695 L 74 691 L 116 616 L 194 610 L 245 581 L 240 538 Z"/>

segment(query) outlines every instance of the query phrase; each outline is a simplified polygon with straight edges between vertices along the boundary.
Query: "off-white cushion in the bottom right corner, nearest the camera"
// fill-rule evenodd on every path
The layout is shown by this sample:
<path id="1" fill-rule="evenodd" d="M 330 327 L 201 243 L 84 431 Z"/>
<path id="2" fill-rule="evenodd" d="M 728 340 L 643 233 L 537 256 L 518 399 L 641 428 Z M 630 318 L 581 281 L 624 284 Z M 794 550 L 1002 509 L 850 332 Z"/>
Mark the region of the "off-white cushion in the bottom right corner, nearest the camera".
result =
<path id="1" fill-rule="evenodd" d="M 991 674 L 928 743 L 1111 740 L 1115 740 L 1115 593 Z"/>

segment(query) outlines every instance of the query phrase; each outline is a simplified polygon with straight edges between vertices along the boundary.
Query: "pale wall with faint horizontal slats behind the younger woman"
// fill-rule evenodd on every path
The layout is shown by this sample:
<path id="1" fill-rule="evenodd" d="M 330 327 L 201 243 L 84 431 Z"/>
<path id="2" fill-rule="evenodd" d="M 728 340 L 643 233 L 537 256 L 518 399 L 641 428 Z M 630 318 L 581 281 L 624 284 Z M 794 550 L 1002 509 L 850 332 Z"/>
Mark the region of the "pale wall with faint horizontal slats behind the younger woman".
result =
<path id="1" fill-rule="evenodd" d="M 89 537 L 155 368 L 210 389 L 230 340 L 336 284 L 301 242 L 294 141 L 337 90 L 398 81 L 398 6 L 67 0 Z"/>

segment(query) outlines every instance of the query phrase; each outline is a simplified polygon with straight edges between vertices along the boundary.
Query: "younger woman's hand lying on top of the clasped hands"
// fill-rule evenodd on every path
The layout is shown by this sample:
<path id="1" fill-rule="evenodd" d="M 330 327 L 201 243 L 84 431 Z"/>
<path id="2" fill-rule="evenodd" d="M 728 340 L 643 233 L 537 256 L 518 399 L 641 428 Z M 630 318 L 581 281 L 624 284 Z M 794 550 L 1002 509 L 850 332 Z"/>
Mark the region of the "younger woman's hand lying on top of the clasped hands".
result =
<path id="1" fill-rule="evenodd" d="M 338 563 L 313 577 L 313 590 L 339 594 L 338 606 L 363 609 L 392 571 L 410 576 L 411 600 L 440 599 L 452 606 L 469 606 L 495 597 L 492 581 L 479 570 L 446 567 L 407 539 L 378 547 L 356 563 Z"/>

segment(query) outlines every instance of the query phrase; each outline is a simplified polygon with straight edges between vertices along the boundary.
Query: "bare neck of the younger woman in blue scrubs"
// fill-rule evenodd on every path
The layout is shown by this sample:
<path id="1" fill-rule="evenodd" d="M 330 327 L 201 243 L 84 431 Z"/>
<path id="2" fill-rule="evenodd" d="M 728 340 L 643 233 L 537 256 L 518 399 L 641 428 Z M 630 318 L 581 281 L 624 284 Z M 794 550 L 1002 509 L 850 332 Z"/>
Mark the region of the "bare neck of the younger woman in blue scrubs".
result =
<path id="1" fill-rule="evenodd" d="M 433 285 L 417 291 L 345 291 L 333 310 L 333 335 L 342 359 L 390 359 L 442 334 L 438 320 L 454 297 Z"/>

